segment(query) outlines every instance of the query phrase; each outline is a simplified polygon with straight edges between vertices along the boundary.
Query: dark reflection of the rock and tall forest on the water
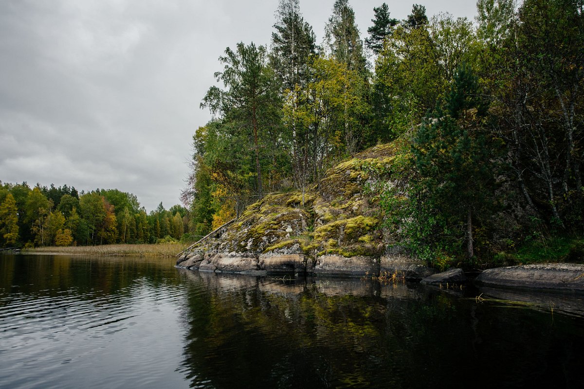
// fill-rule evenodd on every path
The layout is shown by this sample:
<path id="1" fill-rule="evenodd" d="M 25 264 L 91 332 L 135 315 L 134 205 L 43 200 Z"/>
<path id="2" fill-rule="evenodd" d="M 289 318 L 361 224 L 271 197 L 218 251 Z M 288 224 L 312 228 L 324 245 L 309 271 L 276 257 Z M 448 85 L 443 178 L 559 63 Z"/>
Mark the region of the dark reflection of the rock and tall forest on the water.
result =
<path id="1" fill-rule="evenodd" d="M 192 279 L 194 387 L 582 387 L 582 320 L 418 286 Z M 205 290 L 206 293 L 200 293 Z"/>

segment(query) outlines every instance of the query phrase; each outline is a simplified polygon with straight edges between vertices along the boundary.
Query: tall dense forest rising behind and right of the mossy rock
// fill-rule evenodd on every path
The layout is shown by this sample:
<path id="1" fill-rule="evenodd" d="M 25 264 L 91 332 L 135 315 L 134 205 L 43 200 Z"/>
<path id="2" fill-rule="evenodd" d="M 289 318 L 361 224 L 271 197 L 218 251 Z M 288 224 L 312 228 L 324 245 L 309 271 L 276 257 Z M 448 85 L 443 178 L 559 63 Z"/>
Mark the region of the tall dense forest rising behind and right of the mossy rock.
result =
<path id="1" fill-rule="evenodd" d="M 182 194 L 192 232 L 394 142 L 399 183 L 381 188 L 380 212 L 412 255 L 581 239 L 583 3 L 479 0 L 475 20 L 421 5 L 398 20 L 383 3 L 363 40 L 336 0 L 318 44 L 298 1 L 280 0 L 270 47 L 227 48 L 201 102 L 213 119 Z"/>

